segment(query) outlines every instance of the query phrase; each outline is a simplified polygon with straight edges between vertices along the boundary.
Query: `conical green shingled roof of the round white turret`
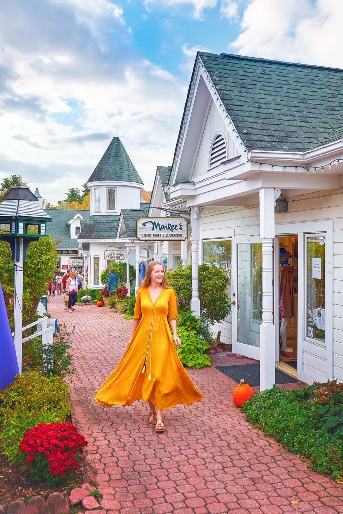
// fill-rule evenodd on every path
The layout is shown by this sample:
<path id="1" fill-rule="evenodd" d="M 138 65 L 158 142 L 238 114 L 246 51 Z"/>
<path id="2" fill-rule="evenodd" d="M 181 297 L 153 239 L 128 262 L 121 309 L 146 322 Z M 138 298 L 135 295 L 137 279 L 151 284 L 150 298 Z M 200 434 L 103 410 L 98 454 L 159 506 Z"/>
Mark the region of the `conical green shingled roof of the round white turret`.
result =
<path id="1" fill-rule="evenodd" d="M 143 183 L 119 137 L 114 137 L 87 182 L 113 180 Z"/>

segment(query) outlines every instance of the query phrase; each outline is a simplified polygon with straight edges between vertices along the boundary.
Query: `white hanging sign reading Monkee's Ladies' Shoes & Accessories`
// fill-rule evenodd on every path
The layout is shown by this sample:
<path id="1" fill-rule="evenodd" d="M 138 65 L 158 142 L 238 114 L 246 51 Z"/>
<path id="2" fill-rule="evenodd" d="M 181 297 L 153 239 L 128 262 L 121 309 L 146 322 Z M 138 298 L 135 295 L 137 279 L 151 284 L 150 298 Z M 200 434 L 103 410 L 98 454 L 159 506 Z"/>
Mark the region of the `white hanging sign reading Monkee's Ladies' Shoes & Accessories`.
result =
<path id="1" fill-rule="evenodd" d="M 185 241 L 187 221 L 184 218 L 139 218 L 136 237 L 139 241 Z"/>

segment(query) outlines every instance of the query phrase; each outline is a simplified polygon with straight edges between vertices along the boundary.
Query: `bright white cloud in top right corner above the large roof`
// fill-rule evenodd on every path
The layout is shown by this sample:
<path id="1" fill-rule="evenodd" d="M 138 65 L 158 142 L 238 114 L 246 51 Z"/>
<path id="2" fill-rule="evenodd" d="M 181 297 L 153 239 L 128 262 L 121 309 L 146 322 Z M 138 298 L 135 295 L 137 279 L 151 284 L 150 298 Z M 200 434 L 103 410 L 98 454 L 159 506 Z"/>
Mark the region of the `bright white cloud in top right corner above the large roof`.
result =
<path id="1" fill-rule="evenodd" d="M 343 67 L 343 2 L 251 0 L 229 44 L 247 56 Z"/>

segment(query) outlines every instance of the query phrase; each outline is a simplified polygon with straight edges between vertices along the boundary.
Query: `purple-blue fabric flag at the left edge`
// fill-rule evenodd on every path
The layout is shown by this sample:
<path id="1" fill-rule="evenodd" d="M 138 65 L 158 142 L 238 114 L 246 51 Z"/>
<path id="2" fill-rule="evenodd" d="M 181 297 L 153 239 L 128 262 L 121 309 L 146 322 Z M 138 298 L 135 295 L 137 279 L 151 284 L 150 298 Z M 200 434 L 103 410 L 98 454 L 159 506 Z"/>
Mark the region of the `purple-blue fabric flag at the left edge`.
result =
<path id="1" fill-rule="evenodd" d="M 14 342 L 8 322 L 3 290 L 0 284 L 0 389 L 13 382 L 14 376 L 19 375 L 16 361 Z"/>

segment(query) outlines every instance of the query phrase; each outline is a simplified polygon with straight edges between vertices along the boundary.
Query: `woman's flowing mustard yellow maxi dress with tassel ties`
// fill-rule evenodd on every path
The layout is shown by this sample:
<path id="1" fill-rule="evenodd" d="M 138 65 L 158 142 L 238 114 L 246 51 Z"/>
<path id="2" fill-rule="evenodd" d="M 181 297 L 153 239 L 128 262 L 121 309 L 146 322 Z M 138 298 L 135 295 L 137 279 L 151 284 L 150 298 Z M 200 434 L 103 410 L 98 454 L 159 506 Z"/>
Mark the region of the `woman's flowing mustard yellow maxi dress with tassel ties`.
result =
<path id="1" fill-rule="evenodd" d="M 134 318 L 140 321 L 132 341 L 96 394 L 97 402 L 111 407 L 149 399 L 165 410 L 201 400 L 204 395 L 180 362 L 168 324 L 177 318 L 174 289 L 164 287 L 155 303 L 148 288 L 138 289 Z"/>

